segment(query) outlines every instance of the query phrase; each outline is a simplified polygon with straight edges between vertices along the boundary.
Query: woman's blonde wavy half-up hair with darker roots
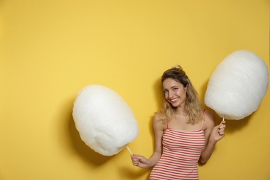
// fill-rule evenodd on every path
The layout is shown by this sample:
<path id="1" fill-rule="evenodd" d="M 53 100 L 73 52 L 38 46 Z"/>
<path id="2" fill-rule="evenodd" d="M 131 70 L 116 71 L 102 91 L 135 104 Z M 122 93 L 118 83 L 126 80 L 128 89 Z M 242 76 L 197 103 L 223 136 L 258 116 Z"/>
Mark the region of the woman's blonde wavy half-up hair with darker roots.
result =
<path id="1" fill-rule="evenodd" d="M 202 111 L 203 107 L 201 102 L 198 98 L 198 93 L 195 88 L 192 86 L 186 72 L 183 71 L 181 66 L 176 65 L 173 66 L 171 69 L 165 71 L 161 77 L 161 82 L 163 83 L 164 80 L 172 78 L 177 82 L 183 84 L 183 87 L 188 87 L 187 89 L 187 96 L 186 96 L 186 106 L 185 110 L 189 116 L 189 122 L 192 125 L 199 123 L 202 120 Z M 163 102 L 163 107 L 157 112 L 159 118 L 161 118 L 163 123 L 168 122 L 176 113 L 176 107 L 173 107 L 170 102 L 165 100 Z"/>

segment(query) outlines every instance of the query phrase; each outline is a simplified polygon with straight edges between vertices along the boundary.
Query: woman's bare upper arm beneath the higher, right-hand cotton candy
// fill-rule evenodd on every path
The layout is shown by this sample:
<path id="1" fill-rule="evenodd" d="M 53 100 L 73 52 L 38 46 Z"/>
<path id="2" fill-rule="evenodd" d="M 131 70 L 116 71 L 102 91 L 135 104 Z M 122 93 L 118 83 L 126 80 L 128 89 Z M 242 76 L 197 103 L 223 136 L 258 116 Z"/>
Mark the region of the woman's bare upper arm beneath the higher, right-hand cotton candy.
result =
<path id="1" fill-rule="evenodd" d="M 210 134 L 215 126 L 215 114 L 212 111 L 206 110 L 204 112 L 204 137 L 205 137 L 205 144 L 204 148 L 208 144 Z"/>

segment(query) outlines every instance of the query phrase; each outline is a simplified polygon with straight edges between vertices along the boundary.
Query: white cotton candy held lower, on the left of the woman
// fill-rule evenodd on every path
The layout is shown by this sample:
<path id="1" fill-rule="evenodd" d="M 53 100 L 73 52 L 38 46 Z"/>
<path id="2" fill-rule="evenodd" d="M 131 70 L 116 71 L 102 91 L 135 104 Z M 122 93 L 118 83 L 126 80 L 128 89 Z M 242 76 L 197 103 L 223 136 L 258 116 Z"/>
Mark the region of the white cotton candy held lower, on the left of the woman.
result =
<path id="1" fill-rule="evenodd" d="M 125 100 L 116 91 L 98 84 L 78 93 L 73 119 L 82 141 L 104 156 L 118 154 L 139 132 L 134 113 Z"/>

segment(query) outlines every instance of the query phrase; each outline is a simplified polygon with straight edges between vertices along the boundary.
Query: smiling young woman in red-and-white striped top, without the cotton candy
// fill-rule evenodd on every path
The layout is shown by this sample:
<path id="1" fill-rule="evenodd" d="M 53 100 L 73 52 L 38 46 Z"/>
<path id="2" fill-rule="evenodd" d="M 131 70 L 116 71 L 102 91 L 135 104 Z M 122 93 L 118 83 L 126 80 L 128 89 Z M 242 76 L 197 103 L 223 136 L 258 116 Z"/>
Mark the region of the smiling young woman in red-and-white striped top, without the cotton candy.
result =
<path id="1" fill-rule="evenodd" d="M 198 161 L 210 159 L 215 144 L 225 136 L 225 122 L 215 126 L 215 115 L 203 109 L 181 66 L 165 71 L 161 82 L 165 102 L 153 120 L 154 153 L 150 159 L 133 154 L 132 163 L 154 166 L 150 179 L 199 179 Z"/>

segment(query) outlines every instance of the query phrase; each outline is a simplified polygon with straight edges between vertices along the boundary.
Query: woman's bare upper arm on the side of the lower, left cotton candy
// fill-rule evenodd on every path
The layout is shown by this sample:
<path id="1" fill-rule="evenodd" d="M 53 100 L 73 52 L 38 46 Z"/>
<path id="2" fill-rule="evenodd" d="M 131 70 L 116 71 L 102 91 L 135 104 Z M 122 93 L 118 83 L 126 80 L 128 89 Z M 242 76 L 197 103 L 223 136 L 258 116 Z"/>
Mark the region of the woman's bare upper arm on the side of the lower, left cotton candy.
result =
<path id="1" fill-rule="evenodd" d="M 165 129 L 165 124 L 161 122 L 158 114 L 154 115 L 153 120 L 153 128 L 154 128 L 154 151 L 162 152 L 162 136 Z"/>

